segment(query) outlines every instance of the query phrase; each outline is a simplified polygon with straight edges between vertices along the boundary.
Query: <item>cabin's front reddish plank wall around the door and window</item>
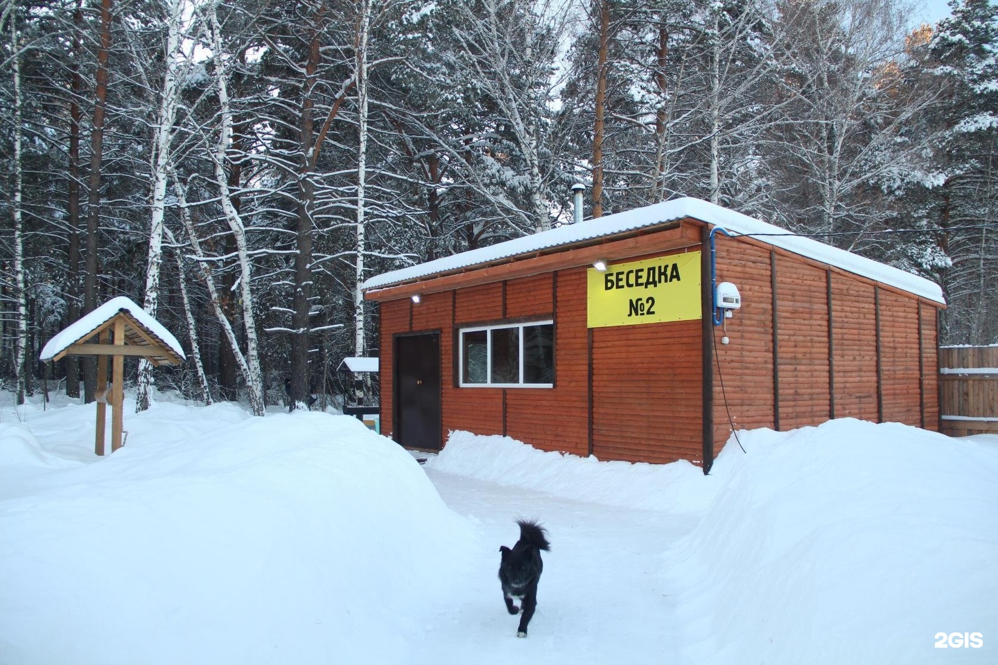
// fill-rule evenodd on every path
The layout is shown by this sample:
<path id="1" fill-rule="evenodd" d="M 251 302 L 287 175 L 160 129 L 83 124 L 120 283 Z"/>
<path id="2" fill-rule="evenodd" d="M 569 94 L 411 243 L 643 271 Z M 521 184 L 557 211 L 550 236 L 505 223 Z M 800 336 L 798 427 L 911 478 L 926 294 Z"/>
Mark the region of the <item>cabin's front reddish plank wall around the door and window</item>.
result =
<path id="1" fill-rule="evenodd" d="M 594 330 L 590 363 L 586 270 L 428 294 L 417 305 L 381 303 L 382 348 L 392 348 L 391 333 L 441 332 L 442 441 L 448 431 L 464 429 L 602 460 L 701 461 L 700 322 Z M 459 327 L 546 318 L 555 322 L 553 388 L 458 388 Z M 391 363 L 383 363 L 385 423 L 391 422 L 391 372 Z"/>

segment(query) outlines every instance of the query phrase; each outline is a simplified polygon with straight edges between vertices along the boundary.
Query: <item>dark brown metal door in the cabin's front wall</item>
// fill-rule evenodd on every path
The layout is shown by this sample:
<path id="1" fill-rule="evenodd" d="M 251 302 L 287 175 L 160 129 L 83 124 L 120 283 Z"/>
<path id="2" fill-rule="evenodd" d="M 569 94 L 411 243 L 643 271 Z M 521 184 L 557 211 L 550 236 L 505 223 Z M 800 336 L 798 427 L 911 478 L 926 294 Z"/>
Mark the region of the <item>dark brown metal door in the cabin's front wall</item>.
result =
<path id="1" fill-rule="evenodd" d="M 440 450 L 440 334 L 395 338 L 395 440 Z"/>

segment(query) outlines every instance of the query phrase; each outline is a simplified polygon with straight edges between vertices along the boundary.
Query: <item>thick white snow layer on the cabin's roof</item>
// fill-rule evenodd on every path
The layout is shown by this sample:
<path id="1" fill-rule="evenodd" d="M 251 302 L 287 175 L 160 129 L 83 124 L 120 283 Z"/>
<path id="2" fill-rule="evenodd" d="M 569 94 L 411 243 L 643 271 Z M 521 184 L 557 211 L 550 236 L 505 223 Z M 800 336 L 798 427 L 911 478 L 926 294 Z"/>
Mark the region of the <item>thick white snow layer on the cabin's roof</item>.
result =
<path id="1" fill-rule="evenodd" d="M 582 223 L 559 226 L 488 247 L 480 247 L 453 256 L 445 256 L 426 263 L 392 270 L 369 278 L 361 288 L 365 291 L 383 288 L 461 268 L 492 263 L 504 258 L 523 256 L 544 249 L 656 226 L 684 217 L 693 217 L 715 226 L 721 226 L 733 235 L 754 235 L 757 240 L 795 254 L 883 284 L 895 286 L 935 302 L 942 304 L 946 302 L 939 285 L 928 279 L 811 238 L 795 235 L 778 226 L 749 217 L 747 214 L 691 196 L 618 212 L 598 219 L 587 219 Z"/>

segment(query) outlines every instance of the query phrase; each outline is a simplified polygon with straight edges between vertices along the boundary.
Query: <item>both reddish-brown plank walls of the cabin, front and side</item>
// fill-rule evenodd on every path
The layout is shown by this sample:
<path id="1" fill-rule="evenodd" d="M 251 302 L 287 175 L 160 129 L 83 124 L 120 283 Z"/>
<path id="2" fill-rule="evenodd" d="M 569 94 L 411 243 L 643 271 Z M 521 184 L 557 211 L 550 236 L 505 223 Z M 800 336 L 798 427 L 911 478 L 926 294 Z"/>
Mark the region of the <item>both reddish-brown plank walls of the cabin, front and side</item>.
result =
<path id="1" fill-rule="evenodd" d="M 729 413 L 740 430 L 831 417 L 937 428 L 935 304 L 763 243 L 717 243 L 718 281 L 736 283 L 743 306 L 727 331 L 713 331 L 716 455 L 731 435 Z M 554 388 L 457 388 L 459 326 L 545 318 L 555 321 Z M 428 294 L 418 305 L 383 302 L 382 429 L 391 434 L 392 334 L 438 330 L 441 441 L 466 429 L 603 460 L 702 463 L 700 326 L 588 329 L 585 267 Z"/>

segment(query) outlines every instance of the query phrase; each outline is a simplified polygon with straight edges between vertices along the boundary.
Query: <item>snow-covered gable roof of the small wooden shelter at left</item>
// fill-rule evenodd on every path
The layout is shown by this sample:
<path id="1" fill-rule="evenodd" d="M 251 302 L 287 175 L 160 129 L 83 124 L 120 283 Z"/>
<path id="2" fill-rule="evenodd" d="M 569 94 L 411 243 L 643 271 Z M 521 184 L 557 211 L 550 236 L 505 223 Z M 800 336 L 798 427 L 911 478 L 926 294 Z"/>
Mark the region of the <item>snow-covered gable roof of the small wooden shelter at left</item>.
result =
<path id="1" fill-rule="evenodd" d="M 118 296 L 107 301 L 94 311 L 81 317 L 76 323 L 70 324 L 66 329 L 49 340 L 49 343 L 42 349 L 41 360 L 57 360 L 65 355 L 74 344 L 82 344 L 84 340 L 93 337 L 109 321 L 119 313 L 126 314 L 133 324 L 140 326 L 141 330 L 126 331 L 126 338 L 133 346 L 149 347 L 151 350 L 156 346 L 150 342 L 159 344 L 162 350 L 151 352 L 150 360 L 161 364 L 162 362 L 180 362 L 187 358 L 180 342 L 173 334 L 163 327 L 159 321 L 146 313 L 146 311 L 125 296 Z M 152 340 L 145 339 L 148 336 Z M 166 352 L 166 355 L 165 355 Z M 172 352 L 172 354 L 170 353 Z M 176 356 L 176 361 L 170 357 Z"/>

